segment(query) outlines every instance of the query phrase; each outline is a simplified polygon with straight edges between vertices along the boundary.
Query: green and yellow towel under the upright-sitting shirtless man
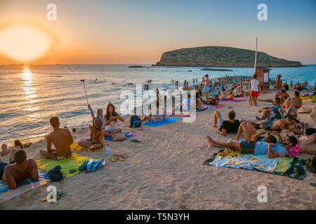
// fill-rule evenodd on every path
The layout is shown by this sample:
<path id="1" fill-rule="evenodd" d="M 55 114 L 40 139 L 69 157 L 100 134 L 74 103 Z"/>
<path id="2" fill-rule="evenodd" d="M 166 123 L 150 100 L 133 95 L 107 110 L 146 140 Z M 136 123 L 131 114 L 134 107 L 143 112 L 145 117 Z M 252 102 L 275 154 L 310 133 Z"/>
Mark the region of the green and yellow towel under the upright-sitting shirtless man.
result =
<path id="1" fill-rule="evenodd" d="M 40 169 L 44 169 L 46 172 L 53 169 L 57 165 L 62 167 L 61 172 L 65 175 L 65 177 L 72 177 L 76 174 L 79 174 L 78 170 L 80 165 L 84 163 L 85 160 L 93 160 L 93 158 L 89 158 L 82 155 L 77 155 L 72 153 L 72 156 L 63 160 L 52 160 L 52 159 L 39 159 L 37 160 L 37 167 Z M 76 169 L 76 172 L 70 173 L 70 170 Z"/>

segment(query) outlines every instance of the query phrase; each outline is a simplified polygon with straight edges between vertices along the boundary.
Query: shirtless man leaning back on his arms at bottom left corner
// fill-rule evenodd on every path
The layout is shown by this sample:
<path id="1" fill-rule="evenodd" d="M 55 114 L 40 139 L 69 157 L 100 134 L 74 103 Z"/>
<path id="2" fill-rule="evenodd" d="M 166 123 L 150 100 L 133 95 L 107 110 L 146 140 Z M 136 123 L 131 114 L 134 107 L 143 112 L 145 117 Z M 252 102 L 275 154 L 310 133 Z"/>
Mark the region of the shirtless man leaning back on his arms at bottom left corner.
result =
<path id="1" fill-rule="evenodd" d="M 7 164 L 0 163 L 0 179 L 8 185 L 9 189 L 17 188 L 17 183 L 32 179 L 37 181 L 39 179 L 39 172 L 37 171 L 37 163 L 32 158 L 27 159 L 24 150 L 19 149 L 14 153 L 15 163 Z"/>

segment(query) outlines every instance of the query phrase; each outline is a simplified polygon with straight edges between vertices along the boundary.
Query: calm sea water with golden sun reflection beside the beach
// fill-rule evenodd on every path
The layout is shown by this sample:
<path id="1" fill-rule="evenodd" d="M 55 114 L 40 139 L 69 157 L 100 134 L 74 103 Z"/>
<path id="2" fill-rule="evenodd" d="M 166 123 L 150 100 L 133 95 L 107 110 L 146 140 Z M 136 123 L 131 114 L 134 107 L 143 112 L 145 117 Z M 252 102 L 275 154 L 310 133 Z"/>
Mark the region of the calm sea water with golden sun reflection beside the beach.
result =
<path id="1" fill-rule="evenodd" d="M 0 144 L 12 144 L 14 139 L 36 141 L 51 131 L 49 118 L 58 116 L 61 126 L 87 127 L 91 121 L 86 106 L 84 87 L 93 111 L 107 102 L 119 109 L 122 90 L 136 91 L 136 84 L 152 79 L 150 89 L 172 88 L 171 78 L 183 80 L 198 78 L 208 73 L 211 78 L 251 76 L 253 68 L 230 68 L 233 71 L 201 71 L 197 67 L 129 68 L 129 65 L 37 65 L 0 66 Z M 191 71 L 188 71 L 191 70 Z M 272 68 L 270 78 L 282 74 L 282 80 L 316 82 L 316 65 L 299 68 Z M 60 76 L 60 77 L 59 77 Z M 93 79 L 98 78 L 98 83 Z"/>

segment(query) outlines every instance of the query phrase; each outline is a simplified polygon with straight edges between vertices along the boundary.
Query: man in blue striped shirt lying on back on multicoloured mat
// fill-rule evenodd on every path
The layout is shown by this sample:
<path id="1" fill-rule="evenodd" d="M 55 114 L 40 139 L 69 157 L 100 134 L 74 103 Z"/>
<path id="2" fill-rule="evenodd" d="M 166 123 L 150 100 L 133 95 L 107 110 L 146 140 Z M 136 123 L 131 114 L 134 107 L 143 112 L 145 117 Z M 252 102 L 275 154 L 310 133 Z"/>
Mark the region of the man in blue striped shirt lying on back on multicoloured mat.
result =
<path id="1" fill-rule="evenodd" d="M 288 155 L 287 150 L 292 146 L 297 144 L 297 139 L 295 137 L 289 137 L 284 141 L 284 146 L 277 144 L 277 139 L 268 135 L 265 141 L 250 141 L 248 138 L 245 141 L 217 141 L 211 139 L 211 137 L 206 138 L 209 147 L 216 148 L 235 148 L 241 153 L 254 154 L 254 155 L 267 155 L 268 158 L 279 158 Z"/>

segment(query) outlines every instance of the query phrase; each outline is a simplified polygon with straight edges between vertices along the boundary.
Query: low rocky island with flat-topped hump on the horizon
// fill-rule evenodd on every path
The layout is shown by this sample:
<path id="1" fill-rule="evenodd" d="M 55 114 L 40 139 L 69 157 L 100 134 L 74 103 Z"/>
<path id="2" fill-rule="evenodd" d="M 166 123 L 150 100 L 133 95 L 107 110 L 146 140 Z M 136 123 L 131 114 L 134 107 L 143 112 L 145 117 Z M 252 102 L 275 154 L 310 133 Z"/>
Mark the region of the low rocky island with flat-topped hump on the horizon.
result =
<path id="1" fill-rule="evenodd" d="M 164 52 L 154 66 L 252 67 L 254 59 L 254 50 L 209 46 Z M 302 64 L 257 52 L 257 66 L 294 67 Z"/>

